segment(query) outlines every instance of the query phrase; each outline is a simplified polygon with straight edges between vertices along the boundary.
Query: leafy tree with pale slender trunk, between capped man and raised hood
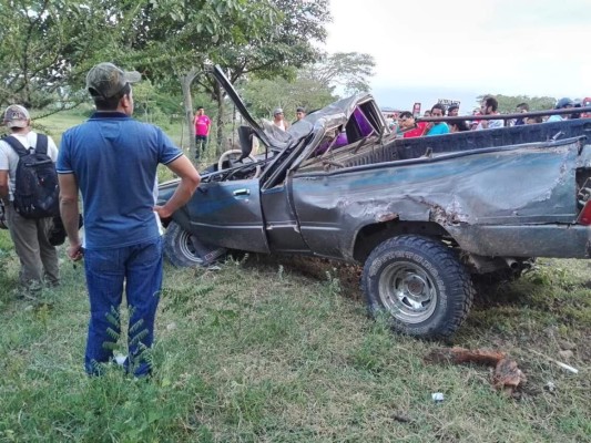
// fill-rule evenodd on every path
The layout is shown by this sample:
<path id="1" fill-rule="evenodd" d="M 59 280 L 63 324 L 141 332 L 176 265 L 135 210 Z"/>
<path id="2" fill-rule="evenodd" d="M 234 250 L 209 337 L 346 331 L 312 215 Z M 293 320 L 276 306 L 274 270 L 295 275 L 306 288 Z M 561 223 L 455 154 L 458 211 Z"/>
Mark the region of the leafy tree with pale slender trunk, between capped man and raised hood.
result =
<path id="1" fill-rule="evenodd" d="M 192 85 L 204 76 L 212 53 L 222 42 L 247 44 L 262 29 L 274 27 L 277 13 L 267 0 L 152 0 L 137 16 L 128 60 L 161 87 L 177 90 L 180 84 L 192 132 Z M 190 144 L 193 151 L 193 137 Z"/>

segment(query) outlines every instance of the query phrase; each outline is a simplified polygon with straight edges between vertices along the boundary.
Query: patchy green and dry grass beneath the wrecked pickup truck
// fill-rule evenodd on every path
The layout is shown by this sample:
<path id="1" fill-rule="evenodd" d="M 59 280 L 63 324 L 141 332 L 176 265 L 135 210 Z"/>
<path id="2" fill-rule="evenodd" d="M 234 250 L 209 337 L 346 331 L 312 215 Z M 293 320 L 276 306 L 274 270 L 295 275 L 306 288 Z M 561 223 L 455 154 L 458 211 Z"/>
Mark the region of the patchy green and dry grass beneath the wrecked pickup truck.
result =
<path id="1" fill-rule="evenodd" d="M 116 365 L 84 374 L 83 267 L 63 246 L 60 257 L 62 286 L 19 299 L 0 230 L 0 442 L 591 442 L 588 260 L 539 260 L 518 281 L 481 285 L 447 342 L 369 319 L 355 266 L 166 265 L 153 377 L 136 381 Z M 489 368 L 426 360 L 452 344 L 507 352 L 526 383 L 507 395 Z"/>

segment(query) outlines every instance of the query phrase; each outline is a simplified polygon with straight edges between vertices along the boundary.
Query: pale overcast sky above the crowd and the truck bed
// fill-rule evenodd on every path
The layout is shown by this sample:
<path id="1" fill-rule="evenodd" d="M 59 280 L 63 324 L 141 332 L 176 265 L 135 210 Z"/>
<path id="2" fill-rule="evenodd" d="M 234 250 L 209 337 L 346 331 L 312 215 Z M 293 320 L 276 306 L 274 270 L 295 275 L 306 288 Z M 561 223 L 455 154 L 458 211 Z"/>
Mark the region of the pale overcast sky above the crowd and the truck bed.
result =
<path id="1" fill-rule="evenodd" d="M 591 0 L 329 1 L 328 52 L 371 54 L 383 106 L 591 96 Z"/>

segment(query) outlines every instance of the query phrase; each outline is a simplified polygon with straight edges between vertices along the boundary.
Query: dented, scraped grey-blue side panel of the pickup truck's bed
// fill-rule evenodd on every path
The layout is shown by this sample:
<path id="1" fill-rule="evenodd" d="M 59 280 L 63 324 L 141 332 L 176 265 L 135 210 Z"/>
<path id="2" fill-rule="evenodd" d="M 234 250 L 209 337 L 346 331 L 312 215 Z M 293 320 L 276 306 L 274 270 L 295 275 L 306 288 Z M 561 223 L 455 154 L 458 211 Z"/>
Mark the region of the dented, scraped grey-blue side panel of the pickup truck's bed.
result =
<path id="1" fill-rule="evenodd" d="M 472 254 L 528 257 L 540 250 L 536 238 L 556 234 L 578 246 L 571 249 L 568 243 L 547 239 L 544 255 L 585 257 L 589 229 L 564 229 L 575 223 L 579 212 L 573 168 L 579 148 L 579 142 L 570 140 L 412 164 L 295 174 L 302 234 L 319 254 L 350 260 L 351 239 L 364 226 L 386 219 L 420 220 L 441 225 Z M 557 226 L 551 229 L 548 224 Z M 538 225 L 543 228 L 531 229 Z"/>

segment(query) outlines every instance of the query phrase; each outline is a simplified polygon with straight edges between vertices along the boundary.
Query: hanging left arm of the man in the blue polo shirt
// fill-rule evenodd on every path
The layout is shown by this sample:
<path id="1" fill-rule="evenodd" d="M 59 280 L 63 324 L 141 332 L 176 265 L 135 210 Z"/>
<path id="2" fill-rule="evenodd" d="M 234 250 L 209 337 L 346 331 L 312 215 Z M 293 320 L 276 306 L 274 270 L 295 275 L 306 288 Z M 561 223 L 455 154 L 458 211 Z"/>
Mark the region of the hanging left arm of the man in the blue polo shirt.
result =
<path id="1" fill-rule="evenodd" d="M 82 258 L 82 243 L 78 234 L 79 210 L 78 210 L 78 182 L 74 174 L 60 174 L 60 215 L 63 227 L 68 234 L 70 246 L 68 247 L 68 257 L 72 260 Z"/>

